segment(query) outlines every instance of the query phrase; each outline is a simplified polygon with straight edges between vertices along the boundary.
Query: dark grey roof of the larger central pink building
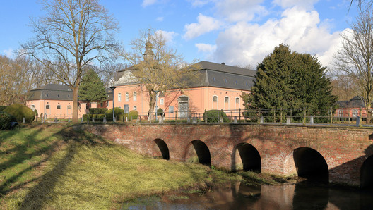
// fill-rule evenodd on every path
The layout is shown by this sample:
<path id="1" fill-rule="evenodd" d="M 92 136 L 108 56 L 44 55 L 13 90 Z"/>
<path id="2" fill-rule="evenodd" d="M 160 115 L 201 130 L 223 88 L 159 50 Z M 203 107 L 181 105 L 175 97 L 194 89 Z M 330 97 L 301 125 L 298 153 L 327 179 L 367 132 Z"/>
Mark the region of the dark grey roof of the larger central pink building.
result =
<path id="1" fill-rule="evenodd" d="M 256 70 L 239 68 L 220 63 L 201 61 L 196 63 L 201 73 L 200 80 L 193 81 L 189 87 L 224 87 L 230 89 L 250 90 L 254 85 Z M 119 70 L 115 79 L 115 86 L 138 84 L 138 80 L 131 73 L 133 67 Z"/>

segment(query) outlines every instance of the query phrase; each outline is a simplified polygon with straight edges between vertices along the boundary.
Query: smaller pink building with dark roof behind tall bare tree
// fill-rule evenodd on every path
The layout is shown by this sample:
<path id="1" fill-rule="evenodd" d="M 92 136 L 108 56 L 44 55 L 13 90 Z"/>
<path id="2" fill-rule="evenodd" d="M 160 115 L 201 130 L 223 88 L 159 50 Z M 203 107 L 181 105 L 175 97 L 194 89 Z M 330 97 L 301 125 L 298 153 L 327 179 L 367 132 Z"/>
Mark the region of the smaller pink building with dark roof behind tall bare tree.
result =
<path id="1" fill-rule="evenodd" d="M 91 103 L 91 108 L 112 107 L 112 93 L 108 94 L 108 101 Z M 88 104 L 79 102 L 78 118 L 88 112 Z M 37 110 L 39 116 L 47 118 L 72 118 L 73 116 L 73 91 L 67 85 L 49 84 L 30 91 L 26 106 Z"/>

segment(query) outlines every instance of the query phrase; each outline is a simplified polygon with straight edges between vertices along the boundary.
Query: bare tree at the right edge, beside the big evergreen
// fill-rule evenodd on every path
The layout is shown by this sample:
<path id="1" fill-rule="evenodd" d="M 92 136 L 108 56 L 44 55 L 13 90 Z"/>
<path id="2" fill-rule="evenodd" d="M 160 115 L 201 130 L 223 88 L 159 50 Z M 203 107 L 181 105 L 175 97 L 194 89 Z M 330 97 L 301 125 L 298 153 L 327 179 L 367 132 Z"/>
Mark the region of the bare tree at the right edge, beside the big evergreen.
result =
<path id="1" fill-rule="evenodd" d="M 360 13 L 351 30 L 342 35 L 343 46 L 335 55 L 336 71 L 356 82 L 355 92 L 372 114 L 373 102 L 373 14 Z M 368 119 L 367 119 L 368 120 Z"/>

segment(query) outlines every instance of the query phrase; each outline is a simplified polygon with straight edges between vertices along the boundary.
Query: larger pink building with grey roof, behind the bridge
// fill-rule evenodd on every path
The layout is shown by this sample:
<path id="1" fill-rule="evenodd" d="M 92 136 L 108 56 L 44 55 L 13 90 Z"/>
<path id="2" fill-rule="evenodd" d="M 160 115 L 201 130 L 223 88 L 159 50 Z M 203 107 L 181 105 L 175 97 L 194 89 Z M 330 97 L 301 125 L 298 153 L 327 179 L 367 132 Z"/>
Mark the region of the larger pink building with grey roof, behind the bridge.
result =
<path id="1" fill-rule="evenodd" d="M 211 109 L 223 109 L 227 115 L 237 116 L 239 109 L 244 109 L 241 92 L 250 92 L 256 71 L 225 63 L 201 61 L 198 64 L 200 80 L 183 92 L 170 89 L 158 93 L 156 107 L 165 111 L 165 118 L 174 118 L 175 115 L 186 118 L 189 114 Z M 117 75 L 114 106 L 121 107 L 124 112 L 136 110 L 146 115 L 149 110 L 148 92 L 141 87 L 131 70 L 120 70 Z"/>

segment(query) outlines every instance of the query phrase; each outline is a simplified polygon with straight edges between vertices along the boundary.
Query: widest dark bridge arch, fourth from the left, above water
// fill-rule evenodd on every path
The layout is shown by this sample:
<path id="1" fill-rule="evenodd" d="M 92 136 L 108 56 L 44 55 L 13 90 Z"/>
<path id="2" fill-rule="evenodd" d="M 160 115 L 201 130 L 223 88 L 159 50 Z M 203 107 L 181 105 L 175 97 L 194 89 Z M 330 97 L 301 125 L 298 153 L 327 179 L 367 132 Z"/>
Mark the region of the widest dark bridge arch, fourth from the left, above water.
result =
<path id="1" fill-rule="evenodd" d="M 328 164 L 324 156 L 315 149 L 299 147 L 294 149 L 293 158 L 298 176 L 307 180 L 328 183 Z"/>

